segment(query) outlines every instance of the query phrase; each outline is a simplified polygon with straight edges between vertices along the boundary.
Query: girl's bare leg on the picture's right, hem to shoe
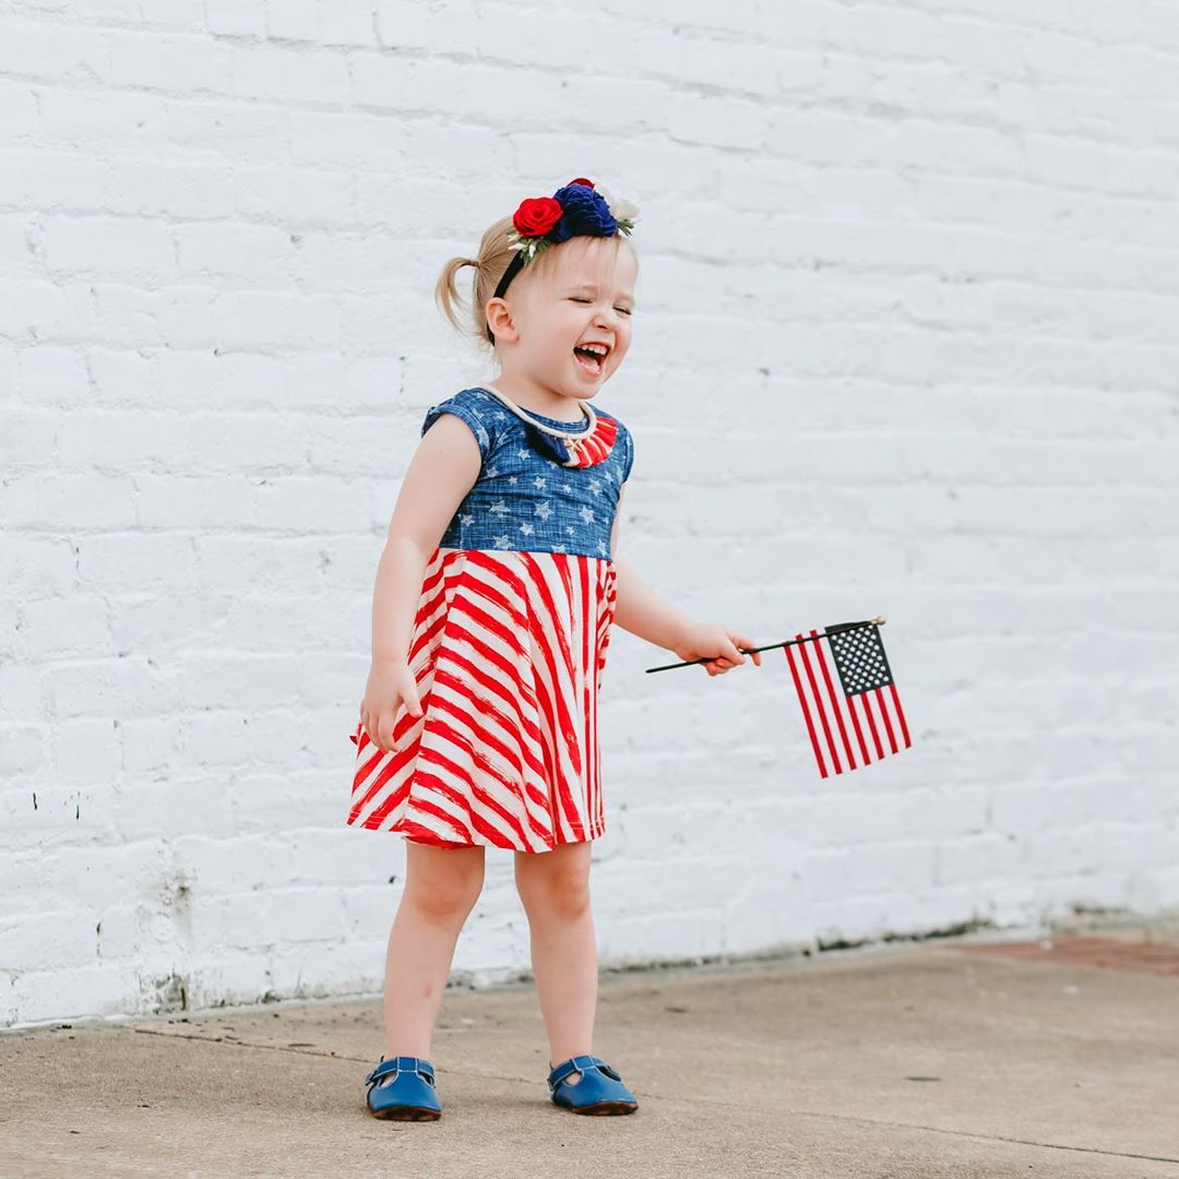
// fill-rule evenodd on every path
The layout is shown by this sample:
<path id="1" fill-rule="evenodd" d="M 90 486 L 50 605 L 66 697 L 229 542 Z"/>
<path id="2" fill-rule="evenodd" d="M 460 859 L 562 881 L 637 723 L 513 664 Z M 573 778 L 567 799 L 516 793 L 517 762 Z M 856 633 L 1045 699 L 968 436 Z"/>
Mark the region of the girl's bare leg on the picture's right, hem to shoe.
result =
<path id="1" fill-rule="evenodd" d="M 598 946 L 590 908 L 590 842 L 515 854 L 516 891 L 528 915 L 532 970 L 548 1033 L 548 1067 L 593 1048 Z M 581 1079 L 569 1076 L 569 1084 Z"/>

